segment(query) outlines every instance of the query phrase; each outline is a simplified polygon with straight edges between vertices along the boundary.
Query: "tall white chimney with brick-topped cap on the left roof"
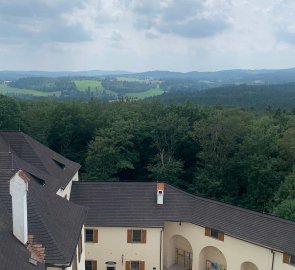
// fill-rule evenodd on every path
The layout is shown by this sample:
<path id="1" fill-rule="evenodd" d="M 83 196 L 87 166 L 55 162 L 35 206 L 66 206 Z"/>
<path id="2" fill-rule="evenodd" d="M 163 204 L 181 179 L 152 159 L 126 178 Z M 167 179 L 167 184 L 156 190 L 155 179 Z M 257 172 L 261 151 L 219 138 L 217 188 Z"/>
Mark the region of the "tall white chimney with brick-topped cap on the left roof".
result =
<path id="1" fill-rule="evenodd" d="M 23 244 L 28 242 L 27 192 L 29 180 L 22 170 L 10 179 L 13 234 Z"/>

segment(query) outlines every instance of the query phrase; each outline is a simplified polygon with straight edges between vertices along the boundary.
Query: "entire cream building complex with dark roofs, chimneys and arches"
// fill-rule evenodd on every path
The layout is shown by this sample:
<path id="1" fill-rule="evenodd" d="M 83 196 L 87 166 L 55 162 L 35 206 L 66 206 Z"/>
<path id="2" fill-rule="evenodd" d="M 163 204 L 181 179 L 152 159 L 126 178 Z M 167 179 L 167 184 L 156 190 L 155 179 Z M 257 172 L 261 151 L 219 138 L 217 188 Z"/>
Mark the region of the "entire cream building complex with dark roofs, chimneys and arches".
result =
<path id="1" fill-rule="evenodd" d="M 80 182 L 78 164 L 21 132 L 1 132 L 0 152 L 4 269 L 295 269 L 295 222 L 163 183 Z M 14 193 L 28 241 L 12 233 Z"/>

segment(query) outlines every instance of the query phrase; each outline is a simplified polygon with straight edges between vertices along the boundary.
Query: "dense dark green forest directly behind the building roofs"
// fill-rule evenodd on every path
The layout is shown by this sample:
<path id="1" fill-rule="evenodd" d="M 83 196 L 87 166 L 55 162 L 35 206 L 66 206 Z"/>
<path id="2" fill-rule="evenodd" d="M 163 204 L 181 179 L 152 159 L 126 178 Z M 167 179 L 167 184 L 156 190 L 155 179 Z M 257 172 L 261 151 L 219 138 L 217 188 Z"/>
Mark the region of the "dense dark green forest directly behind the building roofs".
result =
<path id="1" fill-rule="evenodd" d="M 295 220 L 294 111 L 0 96 L 0 129 L 79 162 L 83 180 L 165 181 Z"/>

